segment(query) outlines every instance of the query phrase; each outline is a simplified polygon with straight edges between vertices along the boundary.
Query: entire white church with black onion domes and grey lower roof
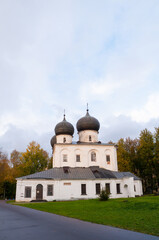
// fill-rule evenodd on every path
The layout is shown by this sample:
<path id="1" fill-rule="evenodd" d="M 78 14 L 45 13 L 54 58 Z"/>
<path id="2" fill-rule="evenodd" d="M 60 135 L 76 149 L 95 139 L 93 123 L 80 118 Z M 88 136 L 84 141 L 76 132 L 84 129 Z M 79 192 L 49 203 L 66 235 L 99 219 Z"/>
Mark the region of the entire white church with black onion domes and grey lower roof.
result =
<path id="1" fill-rule="evenodd" d="M 141 196 L 142 182 L 130 172 L 118 172 L 117 147 L 98 140 L 99 121 L 87 113 L 74 127 L 64 119 L 51 139 L 53 168 L 17 178 L 16 201 L 54 201 L 98 198 L 106 189 L 110 198 Z"/>

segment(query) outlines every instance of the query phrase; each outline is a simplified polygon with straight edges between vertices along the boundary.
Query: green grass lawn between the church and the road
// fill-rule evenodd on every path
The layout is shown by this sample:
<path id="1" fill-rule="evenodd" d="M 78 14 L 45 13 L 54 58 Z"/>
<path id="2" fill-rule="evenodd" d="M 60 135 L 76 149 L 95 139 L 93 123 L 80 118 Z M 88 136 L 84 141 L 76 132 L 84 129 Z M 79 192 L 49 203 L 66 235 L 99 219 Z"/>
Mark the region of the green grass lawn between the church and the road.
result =
<path id="1" fill-rule="evenodd" d="M 159 236 L 158 196 L 110 199 L 106 202 L 95 199 L 18 205 Z"/>

